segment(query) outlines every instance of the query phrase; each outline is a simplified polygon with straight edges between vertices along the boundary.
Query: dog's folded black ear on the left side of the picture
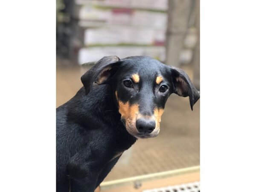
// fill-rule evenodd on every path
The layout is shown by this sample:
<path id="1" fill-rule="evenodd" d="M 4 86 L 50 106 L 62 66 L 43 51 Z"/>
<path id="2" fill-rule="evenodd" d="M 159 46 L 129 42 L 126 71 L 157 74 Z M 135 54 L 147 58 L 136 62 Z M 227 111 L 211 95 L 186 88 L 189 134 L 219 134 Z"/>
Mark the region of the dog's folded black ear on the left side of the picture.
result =
<path id="1" fill-rule="evenodd" d="M 81 76 L 86 95 L 90 92 L 93 83 L 107 84 L 109 82 L 119 68 L 118 61 L 120 59 L 117 56 L 105 56 Z"/>

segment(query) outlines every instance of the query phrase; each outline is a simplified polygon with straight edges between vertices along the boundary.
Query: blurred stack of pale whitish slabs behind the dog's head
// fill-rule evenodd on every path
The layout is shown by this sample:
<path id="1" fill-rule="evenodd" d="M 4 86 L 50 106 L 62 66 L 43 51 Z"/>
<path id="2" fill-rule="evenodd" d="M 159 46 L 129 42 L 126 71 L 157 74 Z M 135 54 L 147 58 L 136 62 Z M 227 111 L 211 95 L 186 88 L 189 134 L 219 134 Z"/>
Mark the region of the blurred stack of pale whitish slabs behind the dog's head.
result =
<path id="1" fill-rule="evenodd" d="M 166 58 L 168 0 L 75 0 L 73 48 L 79 64 L 105 55 Z"/>

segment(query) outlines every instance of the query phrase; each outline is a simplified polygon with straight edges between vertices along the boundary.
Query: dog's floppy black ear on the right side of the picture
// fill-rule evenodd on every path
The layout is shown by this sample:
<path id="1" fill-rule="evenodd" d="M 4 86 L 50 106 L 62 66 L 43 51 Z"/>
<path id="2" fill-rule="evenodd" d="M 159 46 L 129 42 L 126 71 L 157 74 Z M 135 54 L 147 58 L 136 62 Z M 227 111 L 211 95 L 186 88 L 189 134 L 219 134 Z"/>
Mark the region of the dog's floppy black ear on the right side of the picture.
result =
<path id="1" fill-rule="evenodd" d="M 174 93 L 176 93 L 178 96 L 189 96 L 190 107 L 191 110 L 193 110 L 193 105 L 200 98 L 200 92 L 194 87 L 185 71 L 177 67 L 170 68 L 174 85 Z"/>

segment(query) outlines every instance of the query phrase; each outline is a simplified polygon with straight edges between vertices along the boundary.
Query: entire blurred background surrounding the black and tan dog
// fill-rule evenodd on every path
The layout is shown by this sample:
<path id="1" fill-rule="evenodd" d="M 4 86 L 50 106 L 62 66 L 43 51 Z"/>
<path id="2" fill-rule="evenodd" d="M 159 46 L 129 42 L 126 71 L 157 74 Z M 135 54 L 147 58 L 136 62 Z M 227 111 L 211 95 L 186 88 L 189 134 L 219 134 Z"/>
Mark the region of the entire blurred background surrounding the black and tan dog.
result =
<path id="1" fill-rule="evenodd" d="M 106 55 L 148 55 L 186 71 L 200 90 L 199 0 L 57 0 L 56 107 Z M 106 192 L 200 191 L 200 100 L 171 95 L 160 134 L 138 140 L 101 184 Z"/>

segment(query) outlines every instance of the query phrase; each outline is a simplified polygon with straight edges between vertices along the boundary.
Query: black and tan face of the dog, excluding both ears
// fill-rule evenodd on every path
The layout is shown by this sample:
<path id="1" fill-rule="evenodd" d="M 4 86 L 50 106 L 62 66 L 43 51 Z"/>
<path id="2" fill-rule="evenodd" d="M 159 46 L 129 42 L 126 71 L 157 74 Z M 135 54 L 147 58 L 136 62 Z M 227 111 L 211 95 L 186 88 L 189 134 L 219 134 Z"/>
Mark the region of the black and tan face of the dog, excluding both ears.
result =
<path id="1" fill-rule="evenodd" d="M 165 65 L 157 60 L 126 59 L 116 78 L 115 96 L 127 131 L 137 138 L 156 137 L 165 103 L 172 93 Z"/>

